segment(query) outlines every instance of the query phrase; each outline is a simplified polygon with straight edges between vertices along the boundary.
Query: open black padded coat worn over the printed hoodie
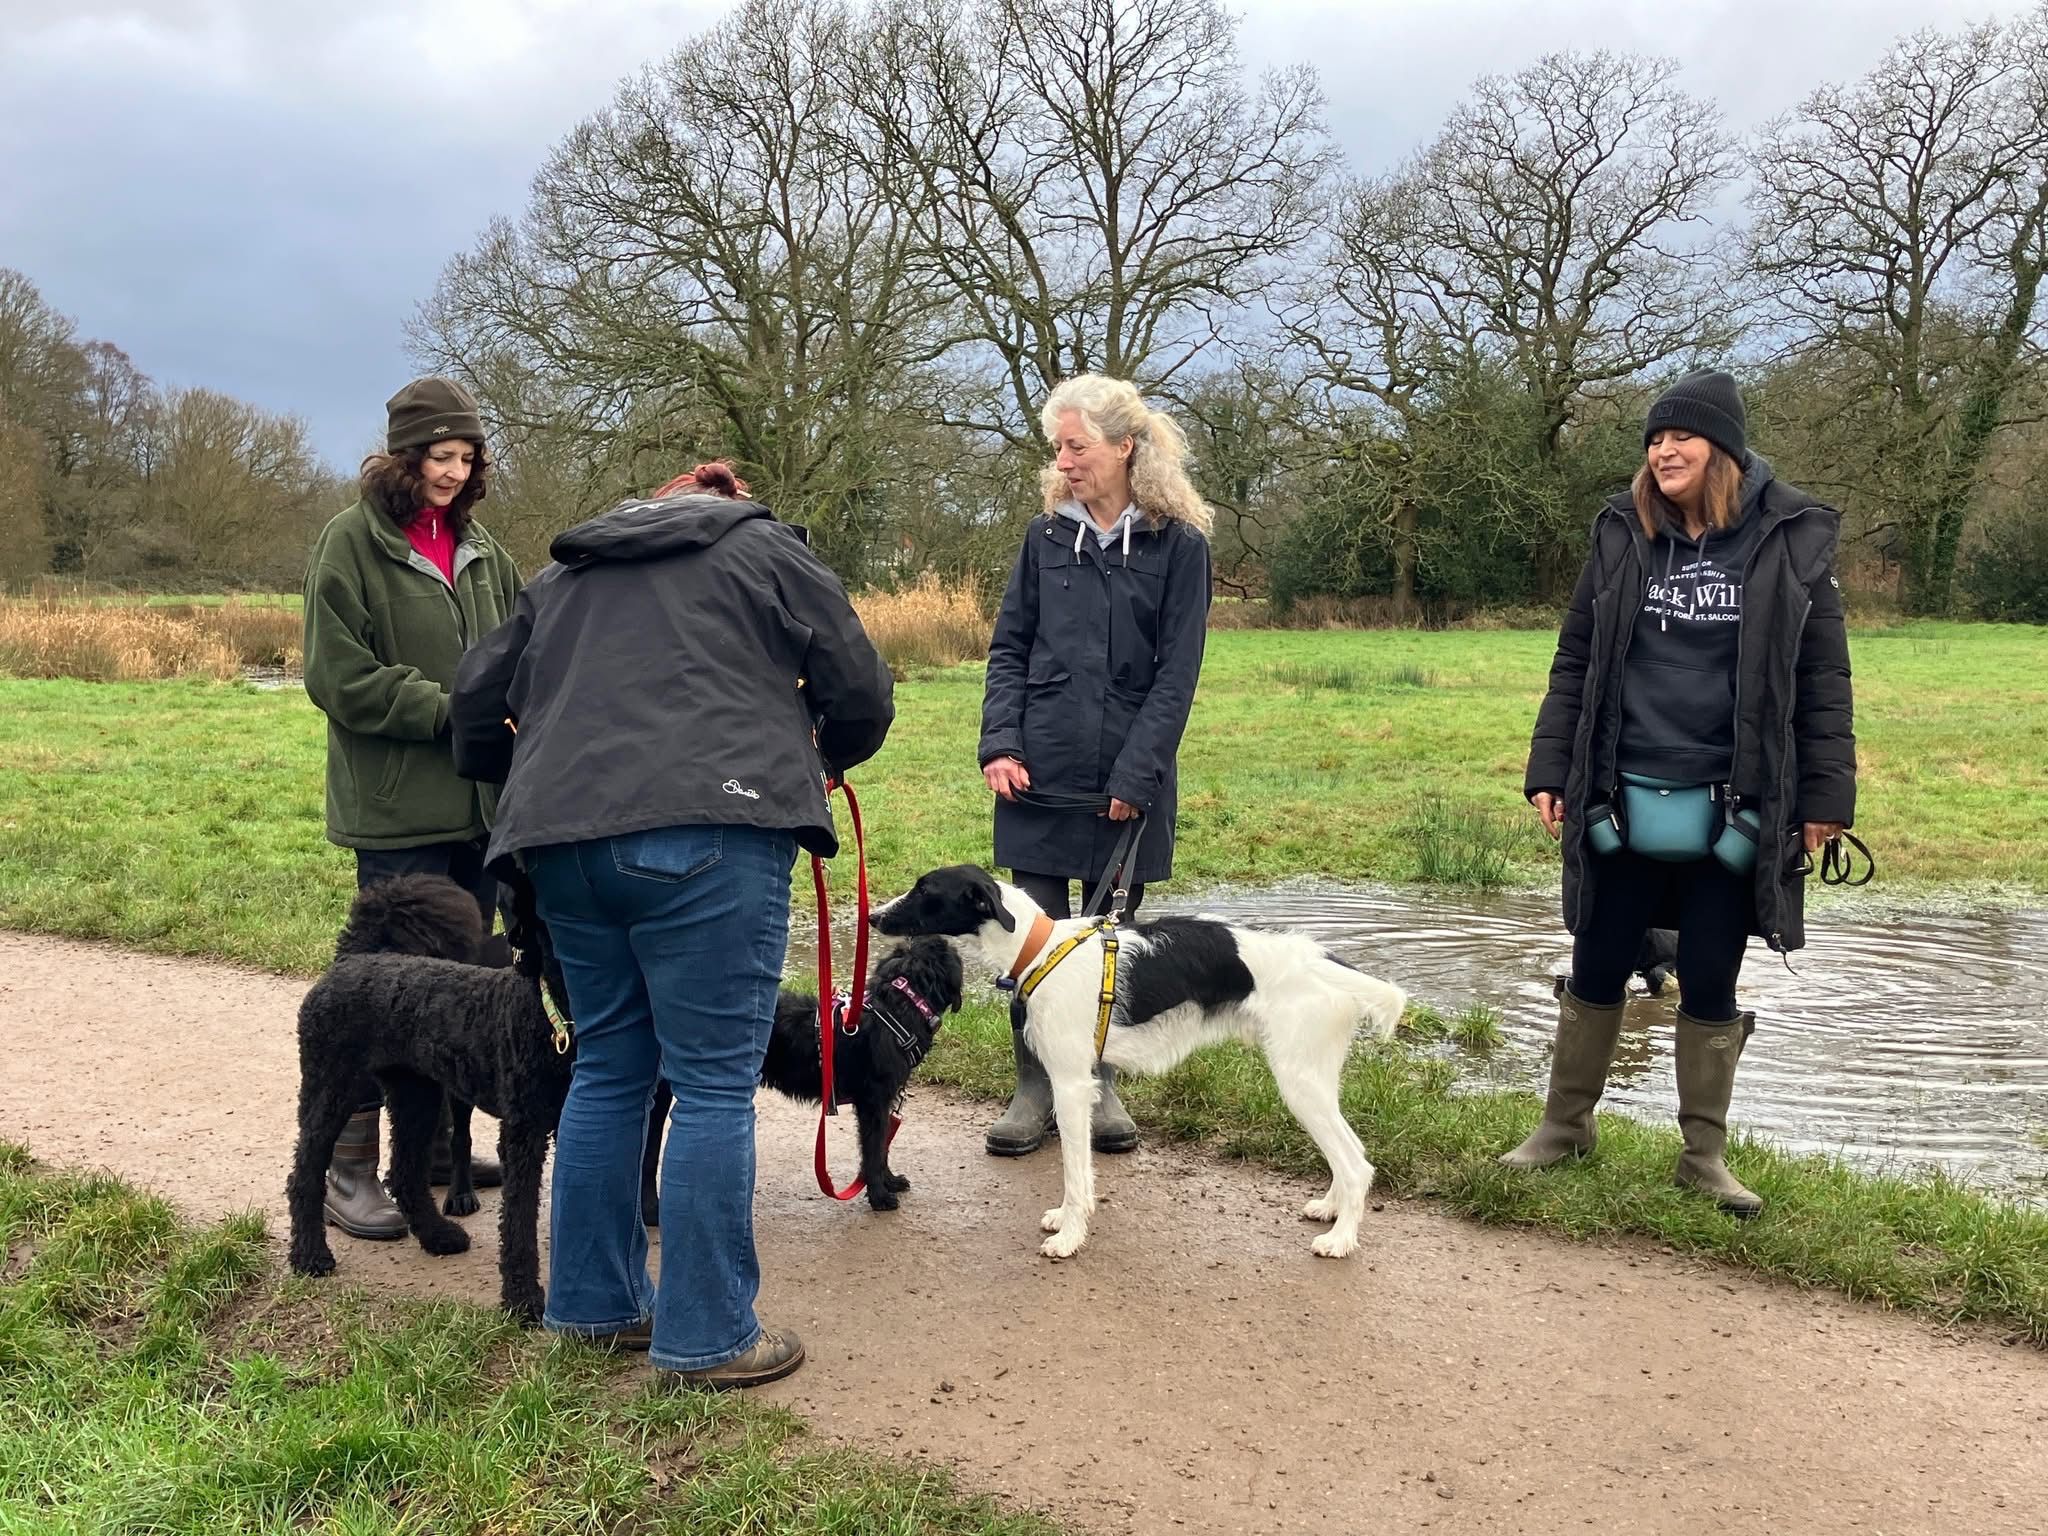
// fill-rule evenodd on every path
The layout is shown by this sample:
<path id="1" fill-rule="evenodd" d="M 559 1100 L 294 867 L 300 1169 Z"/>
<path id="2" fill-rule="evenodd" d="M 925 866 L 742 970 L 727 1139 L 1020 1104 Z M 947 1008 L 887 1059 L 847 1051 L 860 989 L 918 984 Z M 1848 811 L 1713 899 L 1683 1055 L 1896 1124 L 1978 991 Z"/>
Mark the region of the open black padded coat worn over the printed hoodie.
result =
<path id="1" fill-rule="evenodd" d="M 1743 580 L 1729 784 L 1761 819 L 1751 932 L 1774 950 L 1796 950 L 1806 942 L 1802 823 L 1855 819 L 1849 639 L 1835 580 L 1841 516 L 1778 479 L 1763 487 L 1757 514 L 1763 535 Z M 1563 788 L 1571 932 L 1593 909 L 1599 856 L 1587 848 L 1585 813 L 1614 795 L 1622 664 L 1649 569 L 1634 504 L 1618 496 L 1593 520 L 1593 553 L 1536 713 L 1524 793 Z M 1671 926 L 1671 913 L 1651 922 Z"/>

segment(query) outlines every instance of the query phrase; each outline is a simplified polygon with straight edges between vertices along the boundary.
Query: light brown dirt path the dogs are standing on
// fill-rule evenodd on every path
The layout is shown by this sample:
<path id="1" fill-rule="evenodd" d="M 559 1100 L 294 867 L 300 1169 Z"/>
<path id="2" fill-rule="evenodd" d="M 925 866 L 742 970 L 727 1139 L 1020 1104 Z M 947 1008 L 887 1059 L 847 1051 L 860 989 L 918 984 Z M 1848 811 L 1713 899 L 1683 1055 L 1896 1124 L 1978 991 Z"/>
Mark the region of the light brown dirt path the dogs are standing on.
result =
<path id="1" fill-rule="evenodd" d="M 0 934 L 0 1135 L 283 1229 L 301 983 Z M 2048 1532 L 2048 1360 L 1640 1245 L 1386 1204 L 1311 1260 L 1298 1180 L 1104 1159 L 1087 1251 L 1036 1255 L 1053 1157 L 922 1092 L 874 1217 L 762 1106 L 762 1313 L 823 1436 L 950 1462 L 1085 1532 Z M 485 1196 L 492 1200 L 492 1196 Z M 496 1296 L 477 1245 L 336 1235 L 340 1278 Z"/>

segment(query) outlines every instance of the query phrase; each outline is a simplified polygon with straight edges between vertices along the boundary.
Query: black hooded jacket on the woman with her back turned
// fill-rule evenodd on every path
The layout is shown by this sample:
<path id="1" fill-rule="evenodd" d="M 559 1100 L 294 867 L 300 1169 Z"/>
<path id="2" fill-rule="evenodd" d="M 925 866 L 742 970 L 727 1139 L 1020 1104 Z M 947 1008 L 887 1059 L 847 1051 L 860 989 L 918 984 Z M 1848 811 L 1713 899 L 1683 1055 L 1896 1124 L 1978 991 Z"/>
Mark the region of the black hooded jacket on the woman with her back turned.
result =
<path id="1" fill-rule="evenodd" d="M 758 502 L 672 496 L 549 553 L 451 696 L 457 768 L 504 782 L 489 858 L 670 825 L 791 829 L 836 854 L 827 774 L 881 750 L 895 702 L 801 530 Z"/>

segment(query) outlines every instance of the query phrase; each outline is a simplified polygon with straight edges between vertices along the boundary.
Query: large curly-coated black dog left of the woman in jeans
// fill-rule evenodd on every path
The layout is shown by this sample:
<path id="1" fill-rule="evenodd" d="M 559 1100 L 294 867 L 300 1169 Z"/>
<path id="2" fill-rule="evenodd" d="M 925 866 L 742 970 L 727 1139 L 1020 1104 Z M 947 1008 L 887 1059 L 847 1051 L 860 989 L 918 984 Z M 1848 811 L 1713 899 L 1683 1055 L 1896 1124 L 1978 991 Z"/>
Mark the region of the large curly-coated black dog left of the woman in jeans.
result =
<path id="1" fill-rule="evenodd" d="M 557 999 L 567 997 L 547 924 L 530 887 L 514 881 L 506 889 L 510 971 L 473 965 L 483 954 L 477 905 L 453 881 L 406 874 L 356 895 L 334 967 L 299 1006 L 299 1147 L 287 1184 L 291 1268 L 299 1274 L 334 1272 L 322 1188 L 367 1071 L 391 1110 L 391 1198 L 428 1253 L 469 1247 L 469 1233 L 434 1210 L 428 1194 L 442 1094 L 457 1169 L 449 1214 L 477 1208 L 465 1178 L 469 1106 L 498 1116 L 500 1296 L 520 1321 L 541 1321 L 541 1169 L 575 1051 L 555 1049 L 541 1001 L 543 979 Z"/>

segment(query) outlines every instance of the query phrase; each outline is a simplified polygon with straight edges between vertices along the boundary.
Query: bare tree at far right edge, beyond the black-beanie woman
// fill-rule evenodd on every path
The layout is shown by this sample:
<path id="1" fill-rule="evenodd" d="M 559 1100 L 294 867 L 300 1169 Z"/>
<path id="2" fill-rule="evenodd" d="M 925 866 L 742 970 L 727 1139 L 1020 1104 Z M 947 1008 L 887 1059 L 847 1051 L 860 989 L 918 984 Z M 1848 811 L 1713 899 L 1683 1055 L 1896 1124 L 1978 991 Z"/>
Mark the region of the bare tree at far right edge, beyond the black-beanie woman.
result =
<path id="1" fill-rule="evenodd" d="M 1913 33 L 1751 158 L 1753 262 L 1790 348 L 1851 365 L 1829 473 L 1896 535 L 1907 606 L 1944 612 L 2038 332 L 2048 23 Z"/>

